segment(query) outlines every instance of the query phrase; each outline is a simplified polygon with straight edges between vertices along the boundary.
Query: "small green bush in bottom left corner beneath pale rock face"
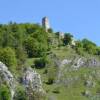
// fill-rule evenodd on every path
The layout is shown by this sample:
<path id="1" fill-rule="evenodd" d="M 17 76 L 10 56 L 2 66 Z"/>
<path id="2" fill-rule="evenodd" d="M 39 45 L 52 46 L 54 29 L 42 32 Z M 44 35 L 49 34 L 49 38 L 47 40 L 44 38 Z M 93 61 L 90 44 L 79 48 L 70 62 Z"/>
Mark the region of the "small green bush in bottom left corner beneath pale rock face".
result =
<path id="1" fill-rule="evenodd" d="M 6 85 L 0 86 L 0 100 L 11 100 L 11 94 Z"/>

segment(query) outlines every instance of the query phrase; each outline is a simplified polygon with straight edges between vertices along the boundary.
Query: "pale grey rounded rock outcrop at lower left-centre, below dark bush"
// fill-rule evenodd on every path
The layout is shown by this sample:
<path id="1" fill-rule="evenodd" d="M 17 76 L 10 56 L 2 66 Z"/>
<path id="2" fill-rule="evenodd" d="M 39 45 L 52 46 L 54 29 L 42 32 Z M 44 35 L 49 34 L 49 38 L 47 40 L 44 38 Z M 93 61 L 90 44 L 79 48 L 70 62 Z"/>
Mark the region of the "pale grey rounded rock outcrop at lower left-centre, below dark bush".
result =
<path id="1" fill-rule="evenodd" d="M 28 88 L 31 85 L 32 90 L 35 92 L 44 92 L 42 88 L 40 74 L 38 74 L 32 68 L 28 68 L 25 70 L 23 76 L 23 84 L 26 88 Z"/>

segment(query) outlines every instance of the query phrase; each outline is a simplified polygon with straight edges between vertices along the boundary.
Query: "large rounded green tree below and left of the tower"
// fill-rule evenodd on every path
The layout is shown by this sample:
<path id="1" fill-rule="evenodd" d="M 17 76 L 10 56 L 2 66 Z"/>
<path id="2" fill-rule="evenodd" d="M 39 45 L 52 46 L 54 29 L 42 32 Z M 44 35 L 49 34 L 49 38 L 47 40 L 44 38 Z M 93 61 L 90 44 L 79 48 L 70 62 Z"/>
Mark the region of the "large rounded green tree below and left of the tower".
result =
<path id="1" fill-rule="evenodd" d="M 31 34 L 31 36 L 25 40 L 24 45 L 29 57 L 43 56 L 44 52 L 48 49 L 47 35 L 41 29 Z"/>

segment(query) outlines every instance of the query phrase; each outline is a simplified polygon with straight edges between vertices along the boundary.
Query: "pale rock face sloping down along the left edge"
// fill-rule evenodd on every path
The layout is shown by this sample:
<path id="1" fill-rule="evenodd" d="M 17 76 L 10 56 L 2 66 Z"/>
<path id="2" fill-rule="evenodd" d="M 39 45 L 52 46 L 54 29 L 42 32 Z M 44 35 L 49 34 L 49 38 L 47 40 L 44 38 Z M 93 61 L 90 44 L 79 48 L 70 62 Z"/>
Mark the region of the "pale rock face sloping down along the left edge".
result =
<path id="1" fill-rule="evenodd" d="M 11 72 L 8 70 L 5 64 L 0 62 L 0 74 L 2 75 L 2 79 L 7 82 L 10 91 L 11 91 L 11 100 L 13 100 L 13 96 L 15 93 L 15 82 L 13 75 Z"/>

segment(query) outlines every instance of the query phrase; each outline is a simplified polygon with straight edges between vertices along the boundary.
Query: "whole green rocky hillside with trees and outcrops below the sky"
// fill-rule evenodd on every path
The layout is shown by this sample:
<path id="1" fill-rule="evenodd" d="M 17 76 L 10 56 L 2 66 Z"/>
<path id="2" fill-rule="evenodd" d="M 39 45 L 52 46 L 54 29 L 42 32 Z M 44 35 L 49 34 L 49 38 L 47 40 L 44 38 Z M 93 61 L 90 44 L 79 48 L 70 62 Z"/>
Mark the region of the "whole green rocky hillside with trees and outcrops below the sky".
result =
<path id="1" fill-rule="evenodd" d="M 0 100 L 99 100 L 100 47 L 38 24 L 0 25 Z"/>

